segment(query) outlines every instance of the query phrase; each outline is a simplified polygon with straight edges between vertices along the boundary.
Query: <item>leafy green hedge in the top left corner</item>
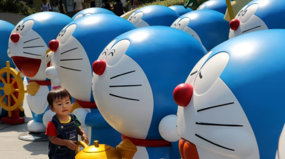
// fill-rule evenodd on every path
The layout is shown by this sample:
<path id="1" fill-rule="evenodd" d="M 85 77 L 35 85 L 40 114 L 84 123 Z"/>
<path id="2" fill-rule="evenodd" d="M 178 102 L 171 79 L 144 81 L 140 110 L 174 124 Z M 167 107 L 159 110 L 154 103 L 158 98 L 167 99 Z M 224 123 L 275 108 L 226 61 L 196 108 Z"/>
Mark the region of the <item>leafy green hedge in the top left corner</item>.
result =
<path id="1" fill-rule="evenodd" d="M 37 13 L 35 8 L 30 8 L 25 2 L 16 0 L 0 0 L 0 12 L 11 12 L 29 16 Z"/>

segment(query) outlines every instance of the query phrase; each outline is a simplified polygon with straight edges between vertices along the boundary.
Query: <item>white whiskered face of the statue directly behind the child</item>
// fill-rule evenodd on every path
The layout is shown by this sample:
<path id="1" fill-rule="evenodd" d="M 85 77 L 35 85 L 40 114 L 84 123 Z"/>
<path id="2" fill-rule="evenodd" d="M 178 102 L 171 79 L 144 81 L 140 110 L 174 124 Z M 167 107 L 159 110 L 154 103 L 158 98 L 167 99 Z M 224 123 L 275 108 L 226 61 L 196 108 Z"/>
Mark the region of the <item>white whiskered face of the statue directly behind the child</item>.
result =
<path id="1" fill-rule="evenodd" d="M 76 24 L 68 25 L 56 38 L 59 45 L 57 50 L 51 53 L 50 66 L 57 72 L 59 80 L 52 78 L 51 83 L 66 88 L 74 98 L 88 101 L 91 92 L 91 66 L 83 46 L 72 36 L 75 29 Z M 79 80 L 82 77 L 84 79 Z M 80 93 L 75 93 L 78 90 Z"/>

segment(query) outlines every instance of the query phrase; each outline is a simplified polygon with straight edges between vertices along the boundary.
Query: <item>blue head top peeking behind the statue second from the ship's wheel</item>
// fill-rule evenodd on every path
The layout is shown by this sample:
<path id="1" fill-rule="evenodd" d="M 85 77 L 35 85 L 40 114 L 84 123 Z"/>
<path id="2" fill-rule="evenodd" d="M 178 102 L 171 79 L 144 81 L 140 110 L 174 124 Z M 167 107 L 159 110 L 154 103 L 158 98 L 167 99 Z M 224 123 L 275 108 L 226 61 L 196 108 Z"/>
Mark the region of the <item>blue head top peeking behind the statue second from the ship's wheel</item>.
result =
<path id="1" fill-rule="evenodd" d="M 104 9 L 104 8 L 92 7 L 92 8 L 87 8 L 87 9 L 84 9 L 84 10 L 79 11 L 78 13 L 76 13 L 76 14 L 72 17 L 72 19 L 73 19 L 73 20 L 76 20 L 76 19 L 81 18 L 81 17 L 83 17 L 83 16 L 88 16 L 88 15 L 91 15 L 91 14 L 99 14 L 99 13 L 113 14 L 113 15 L 115 15 L 115 13 L 113 13 L 113 12 L 110 11 L 110 10 L 107 10 L 107 9 Z"/>

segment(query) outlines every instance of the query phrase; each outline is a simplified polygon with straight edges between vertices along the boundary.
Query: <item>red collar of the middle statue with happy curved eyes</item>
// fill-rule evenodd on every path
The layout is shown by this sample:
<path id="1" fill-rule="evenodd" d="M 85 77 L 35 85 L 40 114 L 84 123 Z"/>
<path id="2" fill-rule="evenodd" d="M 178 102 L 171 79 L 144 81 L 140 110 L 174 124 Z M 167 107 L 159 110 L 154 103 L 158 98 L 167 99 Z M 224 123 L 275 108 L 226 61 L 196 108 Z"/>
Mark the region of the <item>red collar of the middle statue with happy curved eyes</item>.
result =
<path id="1" fill-rule="evenodd" d="M 142 147 L 166 147 L 171 146 L 171 142 L 166 141 L 164 139 L 136 139 L 136 138 L 130 138 L 126 135 L 121 135 L 122 139 L 129 139 L 131 142 L 136 146 L 142 146 Z"/>

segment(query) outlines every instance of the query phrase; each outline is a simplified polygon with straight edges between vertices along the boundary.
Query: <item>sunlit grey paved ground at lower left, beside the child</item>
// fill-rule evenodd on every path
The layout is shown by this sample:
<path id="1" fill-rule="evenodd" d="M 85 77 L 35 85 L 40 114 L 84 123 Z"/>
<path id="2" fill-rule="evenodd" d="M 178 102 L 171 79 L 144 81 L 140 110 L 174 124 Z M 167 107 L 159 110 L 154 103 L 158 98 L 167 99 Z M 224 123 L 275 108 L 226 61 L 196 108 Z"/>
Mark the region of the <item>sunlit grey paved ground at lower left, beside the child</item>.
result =
<path id="1" fill-rule="evenodd" d="M 26 85 L 26 81 L 24 81 Z M 24 141 L 18 138 L 28 133 L 27 123 L 32 120 L 26 96 L 23 108 L 25 109 L 25 123 L 10 125 L 0 123 L 0 159 L 43 159 L 48 158 L 48 141 Z"/>

